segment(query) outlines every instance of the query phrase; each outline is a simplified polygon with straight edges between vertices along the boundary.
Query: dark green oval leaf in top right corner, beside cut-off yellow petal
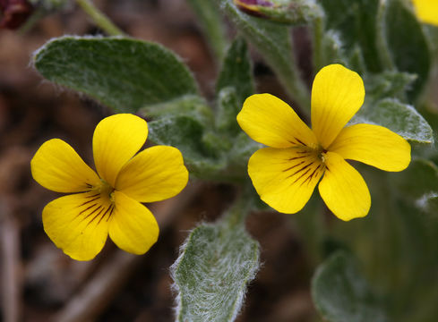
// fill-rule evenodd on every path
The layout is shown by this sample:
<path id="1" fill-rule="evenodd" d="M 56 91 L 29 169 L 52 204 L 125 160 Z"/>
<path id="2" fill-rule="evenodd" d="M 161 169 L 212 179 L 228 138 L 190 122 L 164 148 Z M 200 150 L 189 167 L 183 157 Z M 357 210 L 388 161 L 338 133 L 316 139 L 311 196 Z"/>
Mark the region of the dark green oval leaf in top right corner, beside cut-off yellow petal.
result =
<path id="1" fill-rule="evenodd" d="M 385 10 L 384 30 L 392 60 L 398 70 L 417 74 L 417 81 L 408 91 L 408 97 L 414 101 L 424 89 L 431 68 L 423 28 L 405 2 L 390 0 Z"/>

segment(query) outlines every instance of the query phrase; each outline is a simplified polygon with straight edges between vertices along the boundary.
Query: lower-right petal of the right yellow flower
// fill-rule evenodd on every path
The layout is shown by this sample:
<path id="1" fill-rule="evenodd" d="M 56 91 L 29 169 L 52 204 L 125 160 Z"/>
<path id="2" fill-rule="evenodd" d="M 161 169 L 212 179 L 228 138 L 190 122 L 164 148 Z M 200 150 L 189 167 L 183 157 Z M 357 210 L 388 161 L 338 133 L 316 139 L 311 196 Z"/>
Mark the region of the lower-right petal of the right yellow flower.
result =
<path id="1" fill-rule="evenodd" d="M 366 216 L 371 197 L 362 175 L 334 152 L 325 154 L 325 165 L 318 189 L 331 212 L 345 221 Z"/>

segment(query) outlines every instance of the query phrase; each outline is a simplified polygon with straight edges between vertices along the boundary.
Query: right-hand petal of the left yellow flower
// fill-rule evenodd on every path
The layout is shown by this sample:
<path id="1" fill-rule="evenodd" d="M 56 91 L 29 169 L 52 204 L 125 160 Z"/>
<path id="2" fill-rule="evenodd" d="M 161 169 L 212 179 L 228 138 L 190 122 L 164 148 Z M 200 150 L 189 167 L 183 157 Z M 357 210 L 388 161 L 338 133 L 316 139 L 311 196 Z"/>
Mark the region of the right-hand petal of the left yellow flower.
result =
<path id="1" fill-rule="evenodd" d="M 176 196 L 185 188 L 189 174 L 177 148 L 146 148 L 120 171 L 116 190 L 140 202 L 153 202 Z"/>

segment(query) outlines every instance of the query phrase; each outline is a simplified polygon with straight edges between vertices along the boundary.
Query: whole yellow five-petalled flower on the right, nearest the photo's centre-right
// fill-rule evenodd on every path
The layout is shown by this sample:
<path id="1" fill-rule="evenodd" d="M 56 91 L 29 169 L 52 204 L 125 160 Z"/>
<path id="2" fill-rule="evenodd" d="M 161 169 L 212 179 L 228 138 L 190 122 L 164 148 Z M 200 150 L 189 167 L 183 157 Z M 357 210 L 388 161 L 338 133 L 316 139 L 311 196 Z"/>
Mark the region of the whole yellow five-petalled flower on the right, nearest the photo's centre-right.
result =
<path id="1" fill-rule="evenodd" d="M 345 126 L 364 98 L 360 76 L 339 64 L 322 68 L 313 80 L 312 130 L 277 97 L 246 98 L 237 122 L 253 140 L 271 147 L 256 151 L 248 163 L 264 202 L 279 212 L 296 213 L 323 174 L 319 191 L 333 214 L 346 221 L 366 216 L 370 192 L 346 159 L 401 171 L 410 162 L 410 145 L 382 126 Z"/>

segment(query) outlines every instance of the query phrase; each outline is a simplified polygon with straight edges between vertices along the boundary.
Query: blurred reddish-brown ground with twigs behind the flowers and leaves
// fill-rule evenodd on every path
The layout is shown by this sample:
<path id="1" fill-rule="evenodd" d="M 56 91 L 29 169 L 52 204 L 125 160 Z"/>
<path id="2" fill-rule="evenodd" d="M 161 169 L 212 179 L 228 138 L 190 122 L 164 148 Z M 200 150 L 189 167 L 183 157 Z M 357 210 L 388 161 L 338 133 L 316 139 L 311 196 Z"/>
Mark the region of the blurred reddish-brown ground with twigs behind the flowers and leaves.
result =
<path id="1" fill-rule="evenodd" d="M 218 66 L 185 0 L 94 4 L 133 38 L 175 51 L 204 95 L 212 97 Z M 169 267 L 189 231 L 228 208 L 234 188 L 192 181 L 176 198 L 148 206 L 161 232 L 144 256 L 124 253 L 109 240 L 90 262 L 74 261 L 56 249 L 44 233 L 41 212 L 60 195 L 32 180 L 30 159 L 44 141 L 60 138 L 92 165 L 94 127 L 110 114 L 87 97 L 47 83 L 32 68 L 32 53 L 65 34 L 103 33 L 74 3 L 26 30 L 0 30 L 0 321 L 172 321 Z M 294 40 L 310 83 L 305 29 L 295 29 Z M 271 70 L 252 55 L 258 91 L 285 97 Z M 266 211 L 249 216 L 247 227 L 261 244 L 262 268 L 249 285 L 237 321 L 315 320 L 309 291 L 313 268 L 295 221 Z"/>

